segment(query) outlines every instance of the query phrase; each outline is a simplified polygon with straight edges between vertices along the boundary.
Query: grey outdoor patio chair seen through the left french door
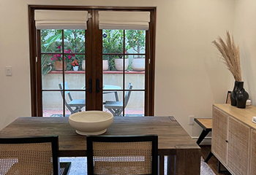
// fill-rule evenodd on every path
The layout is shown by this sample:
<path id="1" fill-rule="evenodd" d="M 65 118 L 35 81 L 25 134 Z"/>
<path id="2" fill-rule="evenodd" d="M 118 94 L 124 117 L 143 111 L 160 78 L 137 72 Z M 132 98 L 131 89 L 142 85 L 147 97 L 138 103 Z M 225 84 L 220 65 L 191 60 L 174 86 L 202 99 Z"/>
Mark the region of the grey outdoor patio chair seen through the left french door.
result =
<path id="1" fill-rule="evenodd" d="M 59 84 L 59 89 L 63 90 L 63 83 Z M 65 82 L 65 90 L 69 90 L 69 85 L 67 85 L 67 82 Z M 66 95 L 69 98 L 69 102 L 66 100 Z M 69 91 L 65 91 L 65 96 L 63 96 L 63 92 L 61 92 L 62 98 L 64 98 L 65 105 L 67 106 L 67 109 L 71 112 L 71 114 L 74 114 L 76 112 L 80 112 L 81 109 L 86 106 L 86 99 L 73 99 Z M 75 108 L 75 109 L 72 109 Z"/>

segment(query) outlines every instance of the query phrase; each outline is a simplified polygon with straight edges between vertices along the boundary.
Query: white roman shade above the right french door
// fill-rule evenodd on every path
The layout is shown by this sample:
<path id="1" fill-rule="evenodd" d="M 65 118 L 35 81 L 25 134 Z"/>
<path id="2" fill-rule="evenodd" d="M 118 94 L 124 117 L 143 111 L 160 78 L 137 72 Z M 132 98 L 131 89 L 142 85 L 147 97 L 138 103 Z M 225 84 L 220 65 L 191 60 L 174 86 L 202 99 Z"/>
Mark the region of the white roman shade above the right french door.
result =
<path id="1" fill-rule="evenodd" d="M 148 30 L 150 12 L 99 11 L 99 29 Z"/>

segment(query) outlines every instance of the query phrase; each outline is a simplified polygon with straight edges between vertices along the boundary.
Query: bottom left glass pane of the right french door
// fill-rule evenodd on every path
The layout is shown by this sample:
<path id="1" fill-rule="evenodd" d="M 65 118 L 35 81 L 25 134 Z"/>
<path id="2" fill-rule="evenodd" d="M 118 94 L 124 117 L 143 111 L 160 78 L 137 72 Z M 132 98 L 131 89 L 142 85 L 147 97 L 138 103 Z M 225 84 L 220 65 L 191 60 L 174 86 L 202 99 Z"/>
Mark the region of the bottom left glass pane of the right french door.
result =
<path id="1" fill-rule="evenodd" d="M 114 112 L 114 115 L 120 114 L 123 116 L 123 92 L 122 91 L 103 91 L 103 111 L 110 112 L 112 111 L 111 106 L 109 104 L 115 103 L 115 106 L 118 106 L 118 109 L 116 112 Z M 119 111 L 121 110 L 121 111 Z M 113 111 L 112 111 L 113 112 Z M 118 113 L 119 112 L 119 113 Z M 121 113 L 120 113 L 121 112 Z M 111 112 L 110 112 L 111 113 Z"/>

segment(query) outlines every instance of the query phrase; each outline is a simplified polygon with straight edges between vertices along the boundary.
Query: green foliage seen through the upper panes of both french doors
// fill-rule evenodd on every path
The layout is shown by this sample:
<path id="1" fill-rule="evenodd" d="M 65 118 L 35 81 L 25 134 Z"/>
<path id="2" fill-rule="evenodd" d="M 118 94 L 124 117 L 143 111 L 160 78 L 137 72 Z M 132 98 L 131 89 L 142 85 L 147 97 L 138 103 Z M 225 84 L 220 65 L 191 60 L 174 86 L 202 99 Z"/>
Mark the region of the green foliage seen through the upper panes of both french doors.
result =
<path id="1" fill-rule="evenodd" d="M 85 53 L 85 32 L 85 30 L 64 30 L 64 53 Z M 145 52 L 146 31 L 126 30 L 125 39 L 123 30 L 103 30 L 102 34 L 102 52 L 111 54 L 103 55 L 103 60 L 108 60 L 110 70 L 116 70 L 114 59 L 123 58 L 122 54 Z M 62 31 L 55 29 L 41 30 L 41 51 L 52 53 L 42 55 L 42 74 L 45 75 L 55 69 L 54 61 L 56 59 L 58 61 L 62 60 L 62 55 L 60 55 L 63 52 Z M 64 58 L 67 61 L 67 71 L 72 70 L 71 62 L 75 59 L 78 60 L 79 70 L 82 69 L 84 55 L 65 55 Z M 128 56 L 125 58 L 128 58 Z M 137 58 L 140 58 L 140 55 Z M 129 69 L 131 69 L 130 67 L 129 65 Z"/>

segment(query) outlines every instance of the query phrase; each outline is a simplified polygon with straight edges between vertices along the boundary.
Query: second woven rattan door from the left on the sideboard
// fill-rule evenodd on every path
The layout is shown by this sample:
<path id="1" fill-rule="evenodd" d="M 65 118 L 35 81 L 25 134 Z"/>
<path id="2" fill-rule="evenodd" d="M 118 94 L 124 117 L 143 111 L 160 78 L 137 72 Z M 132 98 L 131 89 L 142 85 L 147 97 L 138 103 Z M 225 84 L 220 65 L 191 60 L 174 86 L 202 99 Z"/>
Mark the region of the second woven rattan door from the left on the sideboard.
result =
<path id="1" fill-rule="evenodd" d="M 229 118 L 227 167 L 236 175 L 248 174 L 250 128 Z"/>

